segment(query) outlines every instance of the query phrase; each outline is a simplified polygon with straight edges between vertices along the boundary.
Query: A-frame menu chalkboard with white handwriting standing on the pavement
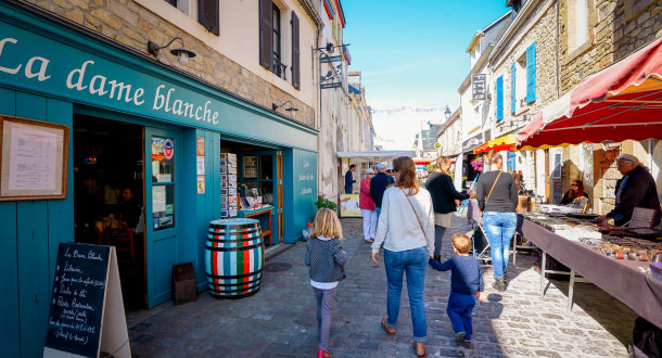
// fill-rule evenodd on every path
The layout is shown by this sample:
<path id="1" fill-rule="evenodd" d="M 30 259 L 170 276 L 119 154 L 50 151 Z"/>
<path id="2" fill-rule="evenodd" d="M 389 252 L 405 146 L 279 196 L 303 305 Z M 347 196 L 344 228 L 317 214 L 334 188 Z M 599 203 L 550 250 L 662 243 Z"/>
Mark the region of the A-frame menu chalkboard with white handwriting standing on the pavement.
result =
<path id="1" fill-rule="evenodd" d="M 115 247 L 61 243 L 44 357 L 130 357 Z"/>

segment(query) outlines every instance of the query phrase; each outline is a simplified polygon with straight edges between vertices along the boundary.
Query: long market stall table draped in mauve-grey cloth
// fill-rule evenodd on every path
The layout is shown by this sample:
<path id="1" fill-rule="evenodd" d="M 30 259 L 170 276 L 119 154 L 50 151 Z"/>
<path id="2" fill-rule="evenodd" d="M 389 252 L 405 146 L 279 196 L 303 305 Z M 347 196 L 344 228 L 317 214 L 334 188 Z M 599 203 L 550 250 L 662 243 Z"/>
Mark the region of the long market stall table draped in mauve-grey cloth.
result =
<path id="1" fill-rule="evenodd" d="M 543 257 L 549 254 L 561 264 L 571 268 L 569 289 L 569 307 L 572 305 L 572 286 L 574 272 L 596 284 L 604 292 L 618 298 L 637 315 L 657 327 L 662 327 L 662 281 L 641 270 L 648 261 L 623 260 L 608 257 L 589 246 L 568 240 L 542 226 L 518 215 L 518 233 L 533 242 L 543 251 Z M 540 287 L 545 278 L 545 263 L 540 267 Z"/>

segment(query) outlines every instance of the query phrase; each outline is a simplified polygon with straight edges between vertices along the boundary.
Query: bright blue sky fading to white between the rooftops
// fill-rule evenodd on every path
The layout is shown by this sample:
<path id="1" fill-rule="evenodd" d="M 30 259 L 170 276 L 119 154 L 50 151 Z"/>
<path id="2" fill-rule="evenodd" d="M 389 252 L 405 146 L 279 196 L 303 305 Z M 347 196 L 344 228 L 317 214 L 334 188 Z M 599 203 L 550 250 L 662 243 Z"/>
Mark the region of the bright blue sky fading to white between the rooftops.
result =
<path id="1" fill-rule="evenodd" d="M 476 30 L 505 14 L 506 0 L 345 0 L 344 42 L 349 71 L 362 72 L 368 104 L 386 106 L 460 103 L 458 87 L 469 74 L 466 52 Z M 421 122 L 441 112 L 374 113 L 378 136 L 410 149 Z M 392 142 L 393 143 L 393 142 Z"/>

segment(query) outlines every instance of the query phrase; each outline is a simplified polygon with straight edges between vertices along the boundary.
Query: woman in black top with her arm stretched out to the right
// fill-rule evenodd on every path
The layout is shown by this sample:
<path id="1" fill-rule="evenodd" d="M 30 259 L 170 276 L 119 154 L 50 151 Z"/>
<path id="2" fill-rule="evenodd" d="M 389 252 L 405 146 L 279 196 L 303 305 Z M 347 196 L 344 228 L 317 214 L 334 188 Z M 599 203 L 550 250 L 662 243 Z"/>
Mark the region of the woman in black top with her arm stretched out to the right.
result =
<path id="1" fill-rule="evenodd" d="M 466 200 L 475 193 L 471 190 L 468 194 L 458 193 L 453 184 L 453 178 L 448 175 L 450 158 L 440 156 L 436 159 L 436 168 L 428 176 L 425 187 L 432 196 L 434 206 L 434 259 L 442 260 L 442 239 L 446 229 L 450 227 L 450 217 L 457 210 L 456 200 Z"/>

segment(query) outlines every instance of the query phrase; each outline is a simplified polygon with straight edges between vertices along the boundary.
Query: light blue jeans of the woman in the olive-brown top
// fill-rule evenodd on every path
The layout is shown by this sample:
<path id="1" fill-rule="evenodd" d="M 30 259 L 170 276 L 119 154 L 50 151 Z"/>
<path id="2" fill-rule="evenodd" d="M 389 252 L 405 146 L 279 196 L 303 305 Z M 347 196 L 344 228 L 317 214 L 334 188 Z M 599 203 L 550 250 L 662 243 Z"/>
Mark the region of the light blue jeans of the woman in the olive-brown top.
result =
<path id="1" fill-rule="evenodd" d="M 508 256 L 510 255 L 510 241 L 518 226 L 514 213 L 485 212 L 483 227 L 489 241 L 494 277 L 500 279 L 506 274 Z"/>

